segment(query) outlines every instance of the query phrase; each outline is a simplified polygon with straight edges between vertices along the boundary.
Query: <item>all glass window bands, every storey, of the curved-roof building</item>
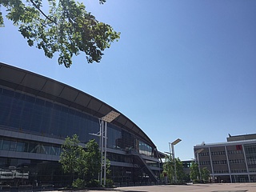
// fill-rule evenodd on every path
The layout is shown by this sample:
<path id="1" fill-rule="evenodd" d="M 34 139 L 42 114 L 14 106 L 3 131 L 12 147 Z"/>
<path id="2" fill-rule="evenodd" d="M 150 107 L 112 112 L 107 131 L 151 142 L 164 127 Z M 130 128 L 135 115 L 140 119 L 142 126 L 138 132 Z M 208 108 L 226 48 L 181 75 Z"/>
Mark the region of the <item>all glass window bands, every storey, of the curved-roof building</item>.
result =
<path id="1" fill-rule="evenodd" d="M 1 129 L 41 135 L 48 138 L 64 139 L 78 134 L 83 143 L 96 139 L 92 134 L 99 131 L 98 118 L 68 106 L 36 98 L 28 94 L 0 88 L 0 126 Z M 136 135 L 108 123 L 107 147 L 114 150 L 130 151 L 156 157 L 154 148 Z M 0 150 L 22 153 L 46 154 L 59 156 L 60 145 L 38 142 L 23 138 L 11 138 L 0 135 Z M 108 153 L 110 161 L 130 163 L 133 157 L 125 154 Z M 147 161 L 149 166 L 158 166 L 156 162 Z M 143 170 L 139 167 L 111 166 L 114 182 L 131 182 L 142 178 Z M 158 173 L 156 173 L 158 174 Z M 0 185 L 54 184 L 62 186 L 68 181 L 56 161 L 44 161 L 42 158 L 22 159 L 0 157 Z"/>

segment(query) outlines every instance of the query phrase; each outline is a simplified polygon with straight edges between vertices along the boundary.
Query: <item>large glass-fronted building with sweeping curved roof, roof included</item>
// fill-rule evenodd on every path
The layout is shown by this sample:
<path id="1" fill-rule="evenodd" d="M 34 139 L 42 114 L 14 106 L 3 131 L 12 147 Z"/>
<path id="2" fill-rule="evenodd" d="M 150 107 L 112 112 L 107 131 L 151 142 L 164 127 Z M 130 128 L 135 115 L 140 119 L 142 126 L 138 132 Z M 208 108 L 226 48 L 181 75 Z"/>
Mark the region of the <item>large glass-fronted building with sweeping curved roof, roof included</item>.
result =
<path id="1" fill-rule="evenodd" d="M 99 118 L 116 111 L 61 82 L 0 63 L 0 185 L 65 185 L 58 163 L 66 136 L 99 142 Z M 158 182 L 161 159 L 154 142 L 120 115 L 107 127 L 110 178 L 117 183 Z"/>

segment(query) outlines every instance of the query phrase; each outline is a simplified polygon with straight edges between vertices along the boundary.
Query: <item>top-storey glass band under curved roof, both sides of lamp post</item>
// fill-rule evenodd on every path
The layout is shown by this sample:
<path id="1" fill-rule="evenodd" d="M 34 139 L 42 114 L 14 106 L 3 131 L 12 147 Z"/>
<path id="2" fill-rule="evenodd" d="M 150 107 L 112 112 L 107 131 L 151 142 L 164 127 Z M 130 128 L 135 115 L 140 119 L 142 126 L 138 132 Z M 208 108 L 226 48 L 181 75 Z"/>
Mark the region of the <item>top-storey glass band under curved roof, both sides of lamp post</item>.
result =
<path id="1" fill-rule="evenodd" d="M 0 111 L 0 125 L 12 130 L 62 139 L 78 134 L 84 143 L 93 138 L 98 140 L 90 134 L 98 133 L 98 118 L 58 103 L 0 88 Z M 153 155 L 150 145 L 112 124 L 108 124 L 107 137 L 109 148 L 134 149 L 140 154 Z"/>

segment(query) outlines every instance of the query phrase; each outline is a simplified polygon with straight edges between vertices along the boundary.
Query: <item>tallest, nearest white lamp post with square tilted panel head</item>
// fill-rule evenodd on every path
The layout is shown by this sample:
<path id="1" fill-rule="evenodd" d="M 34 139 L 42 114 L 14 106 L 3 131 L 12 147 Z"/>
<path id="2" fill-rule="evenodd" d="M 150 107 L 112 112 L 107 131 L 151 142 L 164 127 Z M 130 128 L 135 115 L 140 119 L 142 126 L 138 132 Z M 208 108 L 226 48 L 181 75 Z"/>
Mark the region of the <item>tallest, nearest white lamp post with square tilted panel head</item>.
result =
<path id="1" fill-rule="evenodd" d="M 106 186 L 106 130 L 107 122 L 112 122 L 115 118 L 118 118 L 120 114 L 111 110 L 110 113 L 106 114 L 102 118 L 99 118 L 99 136 L 100 136 L 100 149 L 101 149 L 101 178 L 100 182 L 102 185 L 102 174 L 104 174 L 104 186 Z M 103 159 L 104 156 L 104 159 Z"/>

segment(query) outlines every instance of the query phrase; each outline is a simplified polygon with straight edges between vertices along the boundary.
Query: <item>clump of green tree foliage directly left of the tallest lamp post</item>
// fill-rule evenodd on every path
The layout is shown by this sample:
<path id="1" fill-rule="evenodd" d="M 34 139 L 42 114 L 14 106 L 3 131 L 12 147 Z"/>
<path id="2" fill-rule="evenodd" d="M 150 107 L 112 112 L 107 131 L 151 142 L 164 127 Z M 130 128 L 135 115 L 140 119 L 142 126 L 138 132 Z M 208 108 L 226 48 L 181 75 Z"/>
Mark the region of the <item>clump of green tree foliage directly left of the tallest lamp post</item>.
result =
<path id="1" fill-rule="evenodd" d="M 90 140 L 84 149 L 79 145 L 78 136 L 66 137 L 62 144 L 62 154 L 59 162 L 65 173 L 70 174 L 74 186 L 90 185 L 94 178 L 98 178 L 101 170 L 101 153 L 98 143 Z"/>

